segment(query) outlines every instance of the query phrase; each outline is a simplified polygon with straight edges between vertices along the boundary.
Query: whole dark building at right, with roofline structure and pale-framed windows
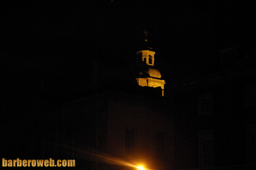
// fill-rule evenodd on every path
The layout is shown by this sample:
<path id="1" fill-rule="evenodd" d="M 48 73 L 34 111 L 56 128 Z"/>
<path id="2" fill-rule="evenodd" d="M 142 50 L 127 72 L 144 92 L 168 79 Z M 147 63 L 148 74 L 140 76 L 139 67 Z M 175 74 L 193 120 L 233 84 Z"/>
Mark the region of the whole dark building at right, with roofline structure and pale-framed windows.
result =
<path id="1" fill-rule="evenodd" d="M 175 169 L 255 169 L 256 52 L 239 55 L 235 49 L 220 51 L 218 71 L 169 88 Z"/>

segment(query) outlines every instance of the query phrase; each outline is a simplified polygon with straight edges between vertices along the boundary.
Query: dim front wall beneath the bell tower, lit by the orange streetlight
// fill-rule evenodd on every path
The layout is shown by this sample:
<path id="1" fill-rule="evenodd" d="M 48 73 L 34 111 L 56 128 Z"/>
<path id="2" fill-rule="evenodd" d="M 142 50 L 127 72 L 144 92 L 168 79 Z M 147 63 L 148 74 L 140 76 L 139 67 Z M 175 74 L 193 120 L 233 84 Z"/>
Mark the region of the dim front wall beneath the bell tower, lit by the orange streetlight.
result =
<path id="1" fill-rule="evenodd" d="M 167 104 L 160 99 L 113 97 L 109 100 L 107 152 L 110 155 L 144 164 L 146 168 L 163 169 L 171 166 L 174 155 L 173 119 Z M 125 129 L 136 128 L 135 153 L 125 153 Z M 156 156 L 156 134 L 164 132 L 163 158 Z"/>

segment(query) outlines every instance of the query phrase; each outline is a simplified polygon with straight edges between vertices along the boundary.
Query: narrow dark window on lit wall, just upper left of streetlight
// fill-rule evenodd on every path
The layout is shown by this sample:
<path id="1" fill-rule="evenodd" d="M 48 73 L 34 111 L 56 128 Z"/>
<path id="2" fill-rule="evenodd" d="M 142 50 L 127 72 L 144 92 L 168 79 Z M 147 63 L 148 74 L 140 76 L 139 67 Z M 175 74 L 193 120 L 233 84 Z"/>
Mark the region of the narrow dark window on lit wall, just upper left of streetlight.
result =
<path id="1" fill-rule="evenodd" d="M 134 155 L 137 129 L 126 128 L 125 130 L 125 154 Z"/>

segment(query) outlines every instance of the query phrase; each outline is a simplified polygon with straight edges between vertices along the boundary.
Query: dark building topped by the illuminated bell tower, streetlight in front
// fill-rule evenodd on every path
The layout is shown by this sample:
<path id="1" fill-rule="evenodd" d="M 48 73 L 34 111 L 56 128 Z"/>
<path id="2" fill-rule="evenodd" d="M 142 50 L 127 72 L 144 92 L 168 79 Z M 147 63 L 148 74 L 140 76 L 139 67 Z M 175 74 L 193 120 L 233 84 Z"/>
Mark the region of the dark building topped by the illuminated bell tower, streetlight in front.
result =
<path id="1" fill-rule="evenodd" d="M 75 159 L 76 169 L 172 168 L 172 108 L 162 96 L 155 52 L 140 52 L 149 52 L 139 61 L 149 69 L 142 72 L 152 80 L 146 86 L 138 85 L 133 74 L 142 67 L 120 57 L 96 58 L 86 79 L 91 88 L 78 93 L 50 84 L 48 76 L 38 77 L 39 87 L 33 88 L 38 90 L 29 96 L 34 108 L 7 122 L 15 125 L 5 132 L 3 153 L 7 158 Z"/>

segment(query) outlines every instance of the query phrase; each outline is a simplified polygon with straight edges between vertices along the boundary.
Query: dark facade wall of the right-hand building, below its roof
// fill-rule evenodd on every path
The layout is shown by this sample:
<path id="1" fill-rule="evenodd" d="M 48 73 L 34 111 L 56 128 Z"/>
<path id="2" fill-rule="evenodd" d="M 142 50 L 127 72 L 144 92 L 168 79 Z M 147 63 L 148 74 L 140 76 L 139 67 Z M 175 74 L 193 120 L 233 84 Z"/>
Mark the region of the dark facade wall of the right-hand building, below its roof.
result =
<path id="1" fill-rule="evenodd" d="M 248 124 L 254 127 L 256 123 L 256 105 L 246 106 L 245 102 L 245 89 L 255 84 L 255 72 L 236 75 L 206 76 L 205 79 L 193 79 L 196 84 L 187 81 L 175 88 L 176 169 L 255 168 L 251 165 L 255 162 L 249 161 L 247 133 Z M 211 110 L 202 113 L 200 102 L 207 96 L 212 99 Z M 207 138 L 206 134 L 213 138 L 213 164 L 209 166 L 202 160 L 201 141 Z"/>

